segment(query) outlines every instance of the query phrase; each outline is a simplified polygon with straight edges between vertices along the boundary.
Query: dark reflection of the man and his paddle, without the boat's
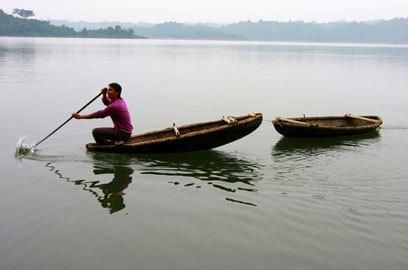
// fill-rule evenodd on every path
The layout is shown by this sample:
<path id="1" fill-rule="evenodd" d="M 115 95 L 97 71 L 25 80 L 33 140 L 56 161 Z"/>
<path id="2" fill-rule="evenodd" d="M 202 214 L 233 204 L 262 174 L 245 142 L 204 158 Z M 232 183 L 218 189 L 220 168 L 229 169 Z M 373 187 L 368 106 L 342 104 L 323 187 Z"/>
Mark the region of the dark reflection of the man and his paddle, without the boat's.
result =
<path id="1" fill-rule="evenodd" d="M 82 186 L 82 190 L 90 192 L 101 203 L 103 208 L 109 209 L 109 212 L 115 213 L 125 208 L 123 192 L 128 185 L 132 182 L 133 169 L 126 166 L 107 166 L 97 167 L 93 170 L 95 175 L 101 174 L 113 174 L 111 182 L 106 184 L 100 184 L 99 181 L 86 181 L 86 180 L 72 180 L 69 177 L 63 176 L 62 172 L 58 170 L 52 162 L 45 165 L 50 171 L 54 172 L 61 179 L 67 182 L 74 183 L 75 185 Z M 101 194 L 100 194 L 101 192 Z"/>

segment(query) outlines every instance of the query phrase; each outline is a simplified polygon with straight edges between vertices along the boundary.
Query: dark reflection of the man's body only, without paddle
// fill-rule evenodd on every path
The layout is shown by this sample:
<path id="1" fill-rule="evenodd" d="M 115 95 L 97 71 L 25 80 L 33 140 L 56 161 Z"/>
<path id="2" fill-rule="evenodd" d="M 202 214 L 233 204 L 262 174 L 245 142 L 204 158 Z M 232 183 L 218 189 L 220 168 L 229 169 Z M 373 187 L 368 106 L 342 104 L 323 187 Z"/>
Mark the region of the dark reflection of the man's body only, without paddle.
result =
<path id="1" fill-rule="evenodd" d="M 95 169 L 94 174 L 111 174 L 113 173 L 113 179 L 110 183 L 96 185 L 102 190 L 104 196 L 99 197 L 98 201 L 101 203 L 103 208 L 108 208 L 109 213 L 113 214 L 117 211 L 122 210 L 125 208 L 123 195 L 125 190 L 129 184 L 132 182 L 133 169 L 129 167 L 120 167 L 116 166 L 113 170 L 112 169 Z"/>

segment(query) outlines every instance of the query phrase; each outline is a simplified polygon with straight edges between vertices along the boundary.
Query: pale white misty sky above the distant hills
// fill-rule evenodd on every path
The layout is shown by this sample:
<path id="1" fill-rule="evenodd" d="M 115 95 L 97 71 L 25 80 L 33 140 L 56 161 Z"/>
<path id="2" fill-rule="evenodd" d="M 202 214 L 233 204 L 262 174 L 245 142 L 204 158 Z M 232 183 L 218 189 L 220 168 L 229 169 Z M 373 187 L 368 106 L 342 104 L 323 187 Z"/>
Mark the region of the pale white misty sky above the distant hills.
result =
<path id="1" fill-rule="evenodd" d="M 121 22 L 364 21 L 408 17 L 408 0 L 0 0 L 37 19 Z"/>

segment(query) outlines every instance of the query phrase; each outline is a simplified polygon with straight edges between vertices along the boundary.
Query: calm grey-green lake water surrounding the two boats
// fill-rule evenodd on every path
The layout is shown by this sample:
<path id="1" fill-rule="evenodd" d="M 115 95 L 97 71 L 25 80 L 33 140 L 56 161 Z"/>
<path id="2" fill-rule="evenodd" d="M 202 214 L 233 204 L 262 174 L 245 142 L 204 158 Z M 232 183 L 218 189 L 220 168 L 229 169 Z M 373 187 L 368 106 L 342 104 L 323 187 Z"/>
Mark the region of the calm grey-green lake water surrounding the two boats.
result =
<path id="1" fill-rule="evenodd" d="M 134 133 L 262 112 L 380 115 L 294 140 L 270 121 L 211 151 L 87 152 L 110 82 Z M 0 38 L 0 269 L 407 269 L 408 46 Z M 95 101 L 84 113 L 102 108 Z"/>

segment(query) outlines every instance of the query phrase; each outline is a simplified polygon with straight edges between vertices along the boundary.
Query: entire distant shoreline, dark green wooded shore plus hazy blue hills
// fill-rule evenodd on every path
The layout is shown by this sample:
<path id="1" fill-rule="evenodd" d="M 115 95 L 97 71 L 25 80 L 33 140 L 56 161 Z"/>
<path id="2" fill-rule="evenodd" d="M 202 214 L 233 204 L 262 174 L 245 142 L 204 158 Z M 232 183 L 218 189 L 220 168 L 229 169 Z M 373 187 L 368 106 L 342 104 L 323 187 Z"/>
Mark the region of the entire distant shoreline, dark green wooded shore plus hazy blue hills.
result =
<path id="1" fill-rule="evenodd" d="M 116 25 L 113 25 L 116 24 Z M 105 27 L 105 28 L 102 28 Z M 81 28 L 82 27 L 82 28 Z M 89 28 L 87 28 L 89 27 Z M 100 27 L 100 28 L 97 28 Z M 140 26 L 109 22 L 91 24 L 22 19 L 0 9 L 0 36 L 100 38 L 100 39 L 172 39 L 255 42 L 308 42 L 351 44 L 408 44 L 408 18 L 372 22 L 305 23 L 303 21 L 257 22 L 211 26 L 166 22 Z"/>

